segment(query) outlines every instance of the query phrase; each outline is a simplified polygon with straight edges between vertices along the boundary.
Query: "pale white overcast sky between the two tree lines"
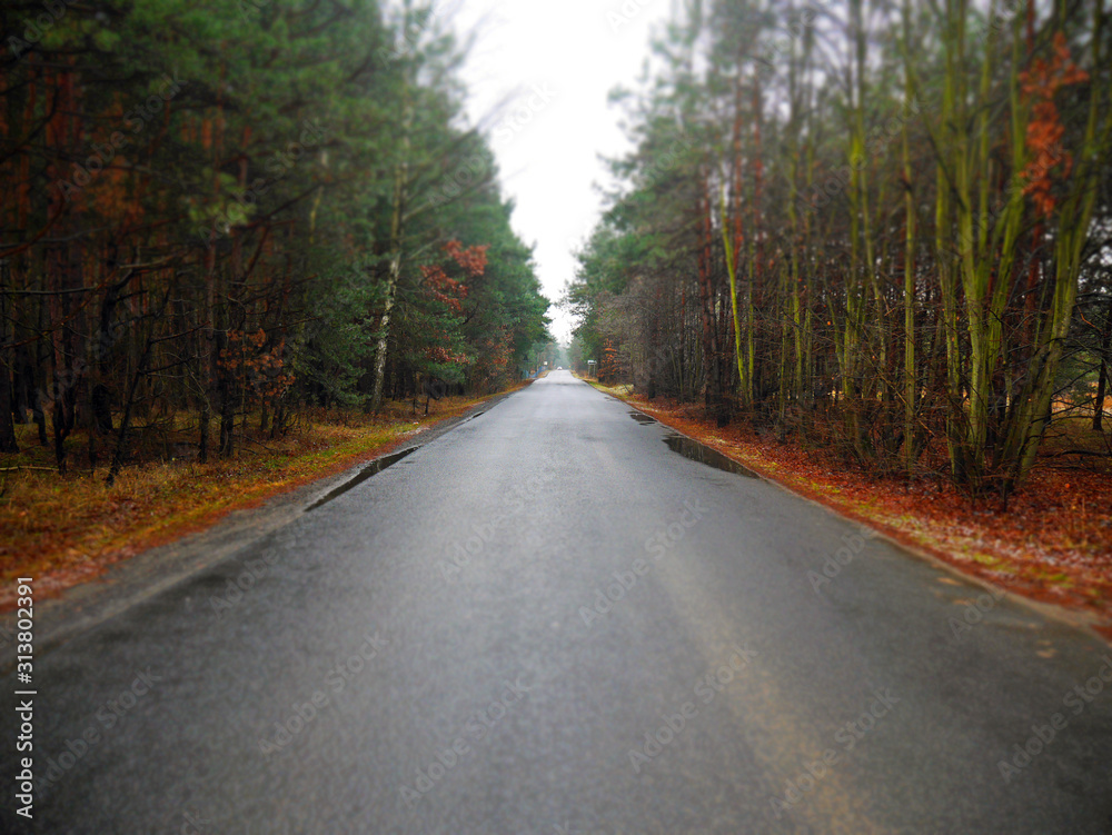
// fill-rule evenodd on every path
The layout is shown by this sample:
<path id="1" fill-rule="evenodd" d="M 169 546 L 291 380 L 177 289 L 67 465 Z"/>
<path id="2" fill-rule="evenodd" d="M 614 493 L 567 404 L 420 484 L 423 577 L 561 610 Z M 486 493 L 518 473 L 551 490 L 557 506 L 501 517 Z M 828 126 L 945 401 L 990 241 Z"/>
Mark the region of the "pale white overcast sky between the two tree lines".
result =
<path id="1" fill-rule="evenodd" d="M 574 277 L 573 249 L 603 208 L 595 183 L 608 178 L 599 155 L 631 148 L 607 95 L 619 85 L 636 87 L 652 31 L 668 20 L 671 7 L 672 0 L 455 0 L 444 7 L 457 33 L 476 36 L 461 73 L 467 113 L 473 125 L 488 126 L 504 192 L 516 203 L 514 228 L 536 246 L 537 276 L 553 302 Z M 570 318 L 555 305 L 548 315 L 553 334 L 567 344 Z"/>

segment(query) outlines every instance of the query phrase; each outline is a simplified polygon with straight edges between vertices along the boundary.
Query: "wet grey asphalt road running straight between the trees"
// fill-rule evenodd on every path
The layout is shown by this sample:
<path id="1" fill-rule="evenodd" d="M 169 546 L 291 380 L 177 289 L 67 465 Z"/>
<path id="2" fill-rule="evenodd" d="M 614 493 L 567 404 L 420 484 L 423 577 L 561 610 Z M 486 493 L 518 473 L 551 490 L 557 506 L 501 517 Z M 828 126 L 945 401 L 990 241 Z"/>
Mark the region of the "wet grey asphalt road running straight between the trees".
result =
<path id="1" fill-rule="evenodd" d="M 668 434 L 554 372 L 41 654 L 0 828 L 1112 832 L 1106 645 Z"/>

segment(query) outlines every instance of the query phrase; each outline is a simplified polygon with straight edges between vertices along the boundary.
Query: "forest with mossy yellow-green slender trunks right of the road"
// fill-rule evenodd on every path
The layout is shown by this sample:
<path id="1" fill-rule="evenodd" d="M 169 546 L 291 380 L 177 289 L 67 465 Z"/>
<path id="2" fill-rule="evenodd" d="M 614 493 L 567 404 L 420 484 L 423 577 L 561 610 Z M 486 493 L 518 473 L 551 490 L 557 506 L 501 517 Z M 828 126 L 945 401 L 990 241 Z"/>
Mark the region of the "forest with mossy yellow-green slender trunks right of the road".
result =
<path id="1" fill-rule="evenodd" d="M 612 96 L 573 362 L 974 496 L 1062 420 L 1112 455 L 1110 46 L 1103 0 L 686 3 Z"/>

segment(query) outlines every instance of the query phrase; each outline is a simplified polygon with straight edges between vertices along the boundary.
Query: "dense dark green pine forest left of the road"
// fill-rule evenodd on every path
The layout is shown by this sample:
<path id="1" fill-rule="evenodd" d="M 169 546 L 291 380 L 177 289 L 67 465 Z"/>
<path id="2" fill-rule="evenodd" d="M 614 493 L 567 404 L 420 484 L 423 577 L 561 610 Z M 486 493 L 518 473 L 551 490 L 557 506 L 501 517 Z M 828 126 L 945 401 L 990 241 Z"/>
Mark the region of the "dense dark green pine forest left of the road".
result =
<path id="1" fill-rule="evenodd" d="M 550 341 L 431 4 L 16 0 L 0 30 L 0 453 L 111 483 L 151 435 L 227 458 Z"/>

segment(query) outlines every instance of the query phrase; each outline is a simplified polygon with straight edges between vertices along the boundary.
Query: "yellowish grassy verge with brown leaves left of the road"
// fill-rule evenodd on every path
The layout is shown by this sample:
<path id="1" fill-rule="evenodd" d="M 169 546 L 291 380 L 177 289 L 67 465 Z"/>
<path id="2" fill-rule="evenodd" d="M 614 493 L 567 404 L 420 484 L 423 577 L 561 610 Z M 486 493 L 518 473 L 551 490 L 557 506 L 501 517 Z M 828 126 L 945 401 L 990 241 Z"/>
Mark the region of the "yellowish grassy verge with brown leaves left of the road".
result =
<path id="1" fill-rule="evenodd" d="M 309 410 L 284 437 L 259 435 L 246 444 L 239 437 L 234 457 L 208 464 L 166 460 L 167 449 L 196 458 L 196 445 L 180 443 L 196 440 L 195 426 L 180 438 L 160 430 L 157 443 L 139 429 L 137 447 L 147 460 L 125 467 L 112 487 L 105 485 L 107 461 L 89 469 L 82 434 L 68 439 L 69 470 L 59 475 L 53 449 L 38 443 L 36 427 L 17 426 L 21 451 L 0 456 L 0 610 L 14 600 L 16 577 L 34 577 L 36 595 L 52 596 L 141 550 L 211 527 L 232 510 L 377 458 L 493 396 L 443 398 L 428 417 L 423 409 L 414 414 L 407 400 L 387 402 L 377 416 Z"/>

